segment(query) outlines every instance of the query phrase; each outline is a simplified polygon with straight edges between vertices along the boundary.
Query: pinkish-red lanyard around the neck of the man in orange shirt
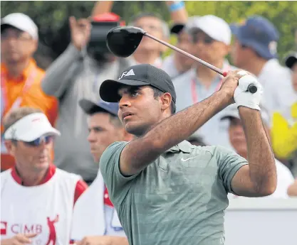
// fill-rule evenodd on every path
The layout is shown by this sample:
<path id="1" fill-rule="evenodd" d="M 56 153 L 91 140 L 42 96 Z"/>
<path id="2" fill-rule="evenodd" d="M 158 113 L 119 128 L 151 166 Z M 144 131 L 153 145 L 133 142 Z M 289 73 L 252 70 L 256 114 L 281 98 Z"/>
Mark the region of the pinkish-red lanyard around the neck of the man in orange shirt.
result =
<path id="1" fill-rule="evenodd" d="M 12 109 L 16 109 L 16 108 L 20 107 L 21 102 L 23 100 L 22 97 L 24 97 L 24 94 L 26 92 L 28 92 L 28 89 L 33 85 L 34 78 L 36 77 L 36 75 L 37 75 L 36 68 L 33 67 L 30 72 L 30 75 L 26 79 L 26 82 L 25 82 L 25 85 L 21 91 L 21 94 L 19 94 L 19 96 L 16 98 L 16 100 L 11 105 L 11 108 L 6 112 L 6 114 L 9 113 L 9 111 L 11 111 Z M 4 72 L 1 72 L 1 97 L 2 97 L 1 102 L 4 102 L 4 104 L 8 104 L 8 95 L 7 95 L 8 92 L 7 92 L 6 82 L 7 81 L 6 81 Z M 4 116 L 5 105 L 2 108 L 3 108 L 3 111 L 1 110 L 1 120 L 3 119 L 3 116 Z"/>

